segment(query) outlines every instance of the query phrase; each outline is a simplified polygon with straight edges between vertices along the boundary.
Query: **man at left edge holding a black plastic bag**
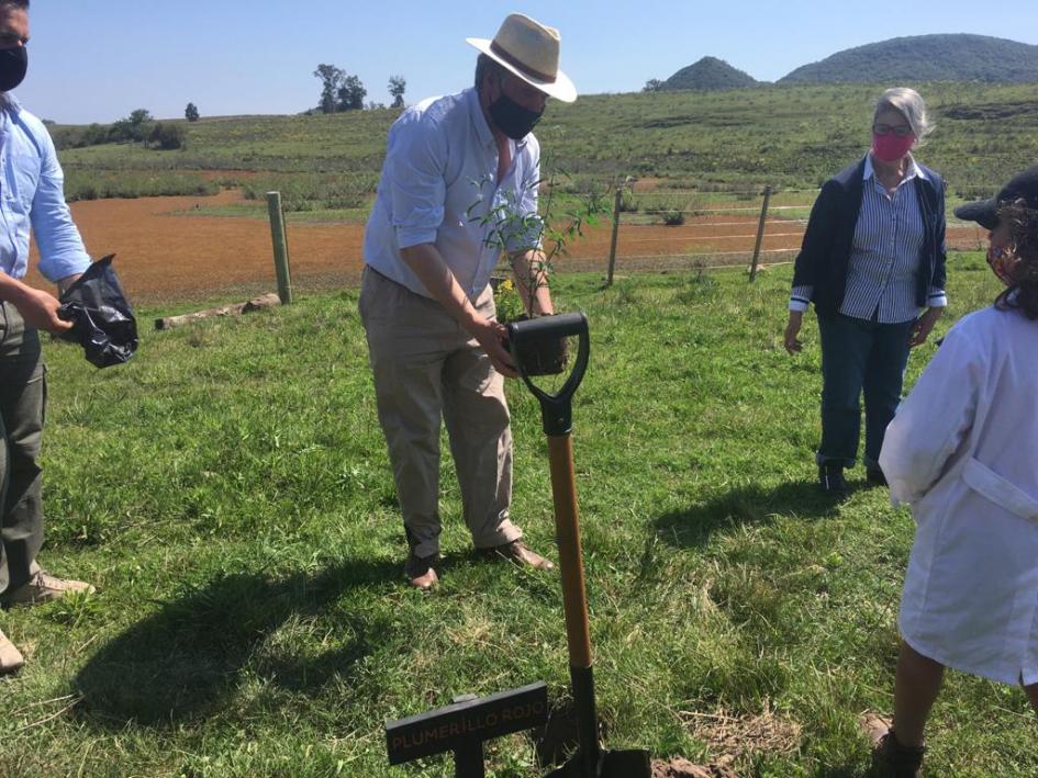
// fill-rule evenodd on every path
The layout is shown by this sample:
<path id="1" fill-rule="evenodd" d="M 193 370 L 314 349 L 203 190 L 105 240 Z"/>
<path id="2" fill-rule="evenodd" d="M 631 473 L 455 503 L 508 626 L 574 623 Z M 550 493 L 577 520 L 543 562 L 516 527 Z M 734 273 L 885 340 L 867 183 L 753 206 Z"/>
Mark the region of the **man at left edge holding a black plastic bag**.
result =
<path id="1" fill-rule="evenodd" d="M 37 330 L 71 327 L 59 303 L 22 280 L 30 233 L 40 272 L 58 290 L 90 264 L 65 203 L 64 176 L 54 143 L 38 119 L 10 93 L 29 66 L 29 0 L 0 0 L 0 604 L 32 605 L 89 584 L 56 578 L 36 563 L 43 545 L 40 447 L 46 372 Z M 0 632 L 0 675 L 24 664 Z"/>

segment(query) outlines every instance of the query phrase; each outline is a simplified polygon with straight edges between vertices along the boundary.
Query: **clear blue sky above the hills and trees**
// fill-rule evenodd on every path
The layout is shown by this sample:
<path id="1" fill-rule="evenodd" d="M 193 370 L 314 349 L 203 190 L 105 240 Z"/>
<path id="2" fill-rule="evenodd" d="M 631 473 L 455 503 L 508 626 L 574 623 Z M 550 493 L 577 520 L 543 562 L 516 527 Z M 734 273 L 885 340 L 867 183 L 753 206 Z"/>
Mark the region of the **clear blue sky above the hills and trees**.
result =
<path id="1" fill-rule="evenodd" d="M 468 36 L 493 37 L 510 11 L 562 33 L 562 69 L 582 93 L 626 92 L 704 55 L 774 80 L 850 46 L 967 32 L 1038 44 L 1038 3 L 964 0 L 37 0 L 30 69 L 16 94 L 63 123 L 111 122 L 133 109 L 183 115 L 297 113 L 316 104 L 313 70 L 360 77 L 368 100 L 405 100 L 470 83 Z M 992 12 L 994 9 L 994 12 Z"/>

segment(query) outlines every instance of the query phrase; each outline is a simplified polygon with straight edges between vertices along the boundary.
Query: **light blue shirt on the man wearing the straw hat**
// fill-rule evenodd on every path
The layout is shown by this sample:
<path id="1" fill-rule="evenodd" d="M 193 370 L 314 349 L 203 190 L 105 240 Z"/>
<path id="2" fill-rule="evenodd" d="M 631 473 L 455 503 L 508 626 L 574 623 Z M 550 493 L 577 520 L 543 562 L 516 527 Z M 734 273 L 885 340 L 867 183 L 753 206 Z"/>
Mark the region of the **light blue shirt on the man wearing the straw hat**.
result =
<path id="1" fill-rule="evenodd" d="M 533 134 L 510 143 L 512 164 L 499 182 L 498 148 L 475 88 L 405 110 L 389 131 L 365 262 L 429 297 L 400 249 L 433 244 L 475 301 L 502 251 L 539 248 L 540 146 Z"/>

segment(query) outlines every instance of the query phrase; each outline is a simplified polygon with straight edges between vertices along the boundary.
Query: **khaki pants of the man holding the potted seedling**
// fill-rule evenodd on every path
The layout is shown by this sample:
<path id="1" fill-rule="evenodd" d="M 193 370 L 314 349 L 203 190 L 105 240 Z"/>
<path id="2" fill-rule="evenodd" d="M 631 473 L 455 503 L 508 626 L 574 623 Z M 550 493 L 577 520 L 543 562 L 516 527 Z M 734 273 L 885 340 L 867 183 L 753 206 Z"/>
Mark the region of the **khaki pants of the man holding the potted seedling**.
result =
<path id="1" fill-rule="evenodd" d="M 490 287 L 476 307 L 494 316 Z M 360 319 L 412 551 L 417 556 L 439 552 L 440 418 L 476 548 L 521 538 L 509 520 L 512 431 L 504 379 L 490 358 L 439 303 L 371 268 L 364 271 Z"/>

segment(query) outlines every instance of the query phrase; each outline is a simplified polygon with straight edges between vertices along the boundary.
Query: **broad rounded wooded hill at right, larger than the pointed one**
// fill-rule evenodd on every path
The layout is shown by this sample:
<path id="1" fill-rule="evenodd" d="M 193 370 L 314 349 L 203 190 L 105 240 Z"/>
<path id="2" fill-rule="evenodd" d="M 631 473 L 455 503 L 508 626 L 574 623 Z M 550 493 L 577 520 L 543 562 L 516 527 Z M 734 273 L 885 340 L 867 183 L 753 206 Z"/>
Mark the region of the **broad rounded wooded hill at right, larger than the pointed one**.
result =
<path id="1" fill-rule="evenodd" d="M 848 48 L 779 83 L 1038 81 L 1038 46 L 985 35 L 916 35 Z"/>

